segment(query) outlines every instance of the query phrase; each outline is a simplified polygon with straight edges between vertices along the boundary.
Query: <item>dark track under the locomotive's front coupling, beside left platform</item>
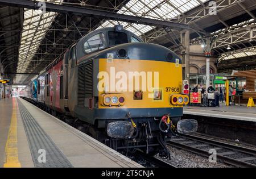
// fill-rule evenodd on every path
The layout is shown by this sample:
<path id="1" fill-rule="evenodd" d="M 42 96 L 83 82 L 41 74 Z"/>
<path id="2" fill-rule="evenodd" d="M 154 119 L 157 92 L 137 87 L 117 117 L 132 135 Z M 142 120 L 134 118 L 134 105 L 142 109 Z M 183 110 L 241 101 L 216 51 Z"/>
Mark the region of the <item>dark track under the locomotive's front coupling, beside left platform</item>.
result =
<path id="1" fill-rule="evenodd" d="M 146 160 L 148 164 L 154 164 L 156 168 L 177 168 L 175 165 L 167 163 L 157 157 L 146 155 L 146 153 L 142 151 L 138 151 L 134 153 L 134 156 L 138 159 Z M 138 162 L 138 161 L 137 161 Z"/>

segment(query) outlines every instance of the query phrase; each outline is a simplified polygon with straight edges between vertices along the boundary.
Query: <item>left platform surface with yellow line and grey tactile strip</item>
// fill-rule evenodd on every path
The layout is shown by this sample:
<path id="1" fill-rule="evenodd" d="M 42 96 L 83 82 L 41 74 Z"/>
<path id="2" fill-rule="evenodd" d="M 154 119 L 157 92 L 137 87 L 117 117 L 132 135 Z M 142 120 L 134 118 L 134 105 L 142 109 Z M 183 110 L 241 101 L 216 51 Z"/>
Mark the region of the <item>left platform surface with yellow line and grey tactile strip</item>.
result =
<path id="1" fill-rule="evenodd" d="M 142 167 L 22 98 L 0 100 L 0 167 Z"/>

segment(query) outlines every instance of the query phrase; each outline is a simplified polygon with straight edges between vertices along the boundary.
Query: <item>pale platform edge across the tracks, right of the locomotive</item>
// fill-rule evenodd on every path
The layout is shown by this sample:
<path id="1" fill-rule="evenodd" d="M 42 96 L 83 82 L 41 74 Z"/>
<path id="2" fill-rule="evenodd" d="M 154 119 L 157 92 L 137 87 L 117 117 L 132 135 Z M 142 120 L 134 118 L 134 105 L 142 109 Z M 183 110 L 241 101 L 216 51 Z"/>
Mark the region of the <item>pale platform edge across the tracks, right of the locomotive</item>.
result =
<path id="1" fill-rule="evenodd" d="M 226 106 L 225 103 L 220 103 L 220 107 L 185 106 L 183 113 L 256 122 L 256 107 Z"/>

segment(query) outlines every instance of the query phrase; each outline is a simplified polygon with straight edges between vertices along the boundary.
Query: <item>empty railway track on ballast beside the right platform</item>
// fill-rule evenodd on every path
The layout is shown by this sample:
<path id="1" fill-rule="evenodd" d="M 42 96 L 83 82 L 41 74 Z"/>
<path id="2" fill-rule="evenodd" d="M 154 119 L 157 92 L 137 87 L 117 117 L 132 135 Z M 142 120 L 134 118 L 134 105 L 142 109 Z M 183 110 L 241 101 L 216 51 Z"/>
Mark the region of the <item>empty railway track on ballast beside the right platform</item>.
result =
<path id="1" fill-rule="evenodd" d="M 209 149 L 215 149 L 218 161 L 238 167 L 256 167 L 255 149 L 184 134 L 172 138 L 167 144 L 206 157 L 211 155 Z"/>

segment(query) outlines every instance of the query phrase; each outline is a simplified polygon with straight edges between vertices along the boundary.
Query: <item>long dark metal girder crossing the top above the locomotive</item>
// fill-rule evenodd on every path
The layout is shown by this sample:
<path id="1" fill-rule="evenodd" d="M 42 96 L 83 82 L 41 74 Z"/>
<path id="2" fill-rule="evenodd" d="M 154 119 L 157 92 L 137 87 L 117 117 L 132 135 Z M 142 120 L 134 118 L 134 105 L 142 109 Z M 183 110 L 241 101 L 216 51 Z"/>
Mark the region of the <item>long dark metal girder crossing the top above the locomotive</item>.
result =
<path id="1" fill-rule="evenodd" d="M 57 4 L 48 3 L 48 2 L 45 2 L 45 3 L 46 3 L 46 11 L 53 11 L 56 13 L 97 16 L 98 18 L 103 18 L 103 19 L 120 20 L 123 22 L 144 24 L 148 26 L 156 26 L 156 27 L 162 27 L 162 28 L 170 27 L 176 30 L 190 29 L 190 27 L 187 24 L 170 22 L 167 20 L 156 20 L 156 19 L 149 19 L 149 18 L 143 18 L 138 16 L 132 16 L 132 15 L 117 14 L 111 11 L 88 9 L 86 7 L 57 5 Z M 0 4 L 7 5 L 7 6 L 23 7 L 27 9 L 36 9 L 36 10 L 42 7 L 39 5 L 39 2 L 29 1 L 29 0 L 13 0 L 13 1 L 0 0 Z"/>

